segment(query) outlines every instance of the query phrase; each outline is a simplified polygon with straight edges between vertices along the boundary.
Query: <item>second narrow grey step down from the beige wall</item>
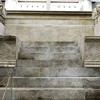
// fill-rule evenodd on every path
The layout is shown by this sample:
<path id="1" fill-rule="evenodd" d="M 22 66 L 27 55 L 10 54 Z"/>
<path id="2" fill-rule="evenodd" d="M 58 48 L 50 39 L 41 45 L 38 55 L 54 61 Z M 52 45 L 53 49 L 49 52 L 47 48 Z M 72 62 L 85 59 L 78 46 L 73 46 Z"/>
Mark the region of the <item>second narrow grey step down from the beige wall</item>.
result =
<path id="1" fill-rule="evenodd" d="M 20 52 L 25 52 L 25 53 L 78 53 L 79 52 L 79 48 L 75 47 L 75 46 L 50 46 L 50 47 L 22 47 L 20 49 Z"/>

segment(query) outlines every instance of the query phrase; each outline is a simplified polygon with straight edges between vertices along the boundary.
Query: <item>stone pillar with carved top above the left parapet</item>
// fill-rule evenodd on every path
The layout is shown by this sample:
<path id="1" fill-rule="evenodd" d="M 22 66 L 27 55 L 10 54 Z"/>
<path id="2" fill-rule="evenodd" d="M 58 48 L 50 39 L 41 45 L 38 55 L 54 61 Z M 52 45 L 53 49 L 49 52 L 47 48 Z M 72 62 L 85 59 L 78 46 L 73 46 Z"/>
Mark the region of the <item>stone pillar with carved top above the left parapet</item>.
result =
<path id="1" fill-rule="evenodd" d="M 5 29 L 4 18 L 5 18 L 5 10 L 0 0 L 0 35 L 4 35 L 4 29 Z"/>

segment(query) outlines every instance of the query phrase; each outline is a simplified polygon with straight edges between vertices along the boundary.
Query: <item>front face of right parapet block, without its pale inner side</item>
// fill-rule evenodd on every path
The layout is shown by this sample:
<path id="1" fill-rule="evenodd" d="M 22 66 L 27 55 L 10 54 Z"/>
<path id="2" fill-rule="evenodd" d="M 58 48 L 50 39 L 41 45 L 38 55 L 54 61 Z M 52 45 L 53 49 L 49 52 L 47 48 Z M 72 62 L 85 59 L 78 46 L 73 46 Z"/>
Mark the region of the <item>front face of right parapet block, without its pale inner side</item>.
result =
<path id="1" fill-rule="evenodd" d="M 84 64 L 86 67 L 100 67 L 100 37 L 85 37 Z"/>

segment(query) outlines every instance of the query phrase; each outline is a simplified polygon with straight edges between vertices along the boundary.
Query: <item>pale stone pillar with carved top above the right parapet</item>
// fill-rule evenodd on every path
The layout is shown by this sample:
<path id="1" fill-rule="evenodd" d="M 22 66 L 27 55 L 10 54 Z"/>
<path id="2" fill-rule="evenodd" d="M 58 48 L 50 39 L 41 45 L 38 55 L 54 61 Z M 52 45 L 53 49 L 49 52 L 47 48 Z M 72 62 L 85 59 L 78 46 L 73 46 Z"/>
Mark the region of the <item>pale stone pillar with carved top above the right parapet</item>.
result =
<path id="1" fill-rule="evenodd" d="M 95 20 L 94 36 L 100 36 L 100 5 L 94 8 L 92 17 Z"/>

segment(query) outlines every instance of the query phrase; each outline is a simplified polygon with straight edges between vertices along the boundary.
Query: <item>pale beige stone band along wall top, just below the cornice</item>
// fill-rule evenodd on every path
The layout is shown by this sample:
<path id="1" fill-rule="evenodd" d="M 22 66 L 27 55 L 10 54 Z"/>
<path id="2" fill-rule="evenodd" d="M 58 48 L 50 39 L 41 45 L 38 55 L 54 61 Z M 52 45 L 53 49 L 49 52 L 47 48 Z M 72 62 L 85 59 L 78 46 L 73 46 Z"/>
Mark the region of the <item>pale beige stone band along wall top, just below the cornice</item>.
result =
<path id="1" fill-rule="evenodd" d="M 27 18 L 28 20 L 25 19 L 25 18 L 21 18 L 21 20 L 19 20 L 19 19 L 14 19 L 14 20 L 7 19 L 6 20 L 6 24 L 9 24 L 9 23 L 11 23 L 11 24 L 29 24 L 30 23 L 30 24 L 36 26 L 36 25 L 41 25 L 41 24 L 42 25 L 52 25 L 52 23 L 53 23 L 53 25 L 56 26 L 56 25 L 64 25 L 64 24 L 66 24 L 66 25 L 72 25 L 72 24 L 73 25 L 92 25 L 93 22 L 94 22 L 93 20 L 89 19 L 90 17 L 87 18 L 87 21 L 84 21 L 85 20 L 85 17 L 82 17 L 82 16 L 81 17 L 79 16 L 80 19 L 82 18 L 81 20 L 75 20 L 75 19 L 78 19 L 77 16 L 74 16 L 74 18 L 75 17 L 76 18 L 75 19 L 73 18 L 73 20 L 67 20 L 69 18 L 72 18 L 73 16 L 71 16 L 71 17 L 66 16 L 64 18 L 58 16 L 59 19 L 57 19 L 57 20 L 52 20 L 52 16 L 51 16 L 51 19 L 50 20 L 48 20 L 47 18 L 45 18 L 46 16 L 44 16 L 44 18 L 42 18 L 42 20 L 36 20 L 35 18 L 33 18 L 33 16 L 30 16 L 30 17 L 31 18 Z M 39 16 L 37 16 L 37 17 L 39 19 Z M 43 16 L 41 16 L 41 17 L 43 17 Z M 57 16 L 53 16 L 53 17 L 54 18 L 55 17 L 58 18 Z M 50 16 L 48 18 L 50 18 Z M 61 19 L 66 19 L 66 20 L 62 21 Z"/>

